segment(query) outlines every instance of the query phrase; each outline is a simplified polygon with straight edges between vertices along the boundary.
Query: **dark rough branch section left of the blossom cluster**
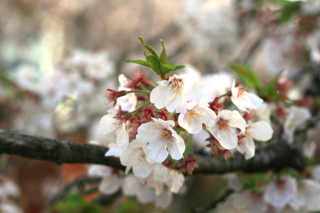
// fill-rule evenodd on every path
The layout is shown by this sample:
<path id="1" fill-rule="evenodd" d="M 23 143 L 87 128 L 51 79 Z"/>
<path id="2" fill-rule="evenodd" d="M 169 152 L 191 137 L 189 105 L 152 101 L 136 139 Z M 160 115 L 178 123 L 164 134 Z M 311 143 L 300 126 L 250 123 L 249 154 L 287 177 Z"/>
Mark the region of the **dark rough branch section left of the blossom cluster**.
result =
<path id="1" fill-rule="evenodd" d="M 44 138 L 0 129 L 0 153 L 62 163 L 102 164 L 124 170 L 119 159 L 104 157 L 108 148 Z"/>

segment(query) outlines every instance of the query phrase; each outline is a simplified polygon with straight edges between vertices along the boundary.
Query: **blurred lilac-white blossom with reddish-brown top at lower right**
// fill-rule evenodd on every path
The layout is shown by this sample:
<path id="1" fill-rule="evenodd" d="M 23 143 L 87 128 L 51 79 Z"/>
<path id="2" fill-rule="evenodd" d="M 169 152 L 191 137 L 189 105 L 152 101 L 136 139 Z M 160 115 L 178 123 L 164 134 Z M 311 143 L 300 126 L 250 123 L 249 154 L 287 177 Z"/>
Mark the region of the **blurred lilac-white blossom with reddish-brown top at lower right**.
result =
<path id="1" fill-rule="evenodd" d="M 293 200 L 296 191 L 296 180 L 290 176 L 282 176 L 279 181 L 266 185 L 263 200 L 276 209 L 283 209 Z"/>

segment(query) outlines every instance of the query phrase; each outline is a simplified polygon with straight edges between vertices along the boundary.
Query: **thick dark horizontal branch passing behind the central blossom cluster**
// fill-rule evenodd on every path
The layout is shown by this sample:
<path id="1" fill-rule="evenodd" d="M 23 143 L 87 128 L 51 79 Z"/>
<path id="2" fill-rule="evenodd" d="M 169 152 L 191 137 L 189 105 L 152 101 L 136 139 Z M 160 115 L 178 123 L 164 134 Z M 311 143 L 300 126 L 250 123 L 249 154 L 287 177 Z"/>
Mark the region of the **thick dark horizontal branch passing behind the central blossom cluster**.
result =
<path id="1" fill-rule="evenodd" d="M 0 153 L 62 163 L 101 164 L 124 170 L 119 159 L 104 157 L 108 149 L 90 144 L 78 144 L 57 139 L 30 136 L 16 130 L 0 130 Z M 198 156 L 199 168 L 193 174 L 222 174 L 234 171 L 261 172 L 292 167 L 301 170 L 303 156 L 299 150 L 286 143 L 276 143 L 257 149 L 254 158 L 245 160 L 236 153 L 225 161 L 212 156 Z"/>

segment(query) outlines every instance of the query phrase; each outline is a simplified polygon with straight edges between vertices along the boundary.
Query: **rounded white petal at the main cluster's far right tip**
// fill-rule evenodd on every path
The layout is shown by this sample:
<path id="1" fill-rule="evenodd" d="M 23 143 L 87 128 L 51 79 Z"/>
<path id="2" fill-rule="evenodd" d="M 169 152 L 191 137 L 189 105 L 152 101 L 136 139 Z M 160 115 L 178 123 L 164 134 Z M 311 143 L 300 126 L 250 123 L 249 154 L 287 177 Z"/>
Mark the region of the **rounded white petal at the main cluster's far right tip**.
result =
<path id="1" fill-rule="evenodd" d="M 272 137 L 273 130 L 265 121 L 258 121 L 251 124 L 246 132 L 250 134 L 252 138 L 258 141 L 267 141 Z"/>

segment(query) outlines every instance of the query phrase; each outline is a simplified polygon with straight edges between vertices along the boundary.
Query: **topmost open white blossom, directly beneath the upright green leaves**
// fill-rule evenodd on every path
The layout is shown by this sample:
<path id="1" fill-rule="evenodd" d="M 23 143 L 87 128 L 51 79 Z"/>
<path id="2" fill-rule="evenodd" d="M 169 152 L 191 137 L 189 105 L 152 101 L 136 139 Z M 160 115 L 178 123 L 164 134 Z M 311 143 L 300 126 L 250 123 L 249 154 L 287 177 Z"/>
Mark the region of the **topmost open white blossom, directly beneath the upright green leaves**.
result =
<path id="1" fill-rule="evenodd" d="M 173 75 L 168 80 L 157 82 L 150 94 L 150 102 L 154 103 L 157 109 L 165 107 L 168 112 L 179 113 L 183 104 L 188 100 L 186 91 L 194 83 L 189 74 Z"/>

